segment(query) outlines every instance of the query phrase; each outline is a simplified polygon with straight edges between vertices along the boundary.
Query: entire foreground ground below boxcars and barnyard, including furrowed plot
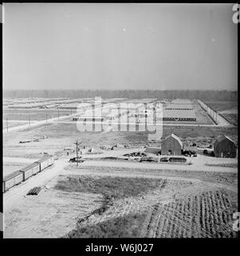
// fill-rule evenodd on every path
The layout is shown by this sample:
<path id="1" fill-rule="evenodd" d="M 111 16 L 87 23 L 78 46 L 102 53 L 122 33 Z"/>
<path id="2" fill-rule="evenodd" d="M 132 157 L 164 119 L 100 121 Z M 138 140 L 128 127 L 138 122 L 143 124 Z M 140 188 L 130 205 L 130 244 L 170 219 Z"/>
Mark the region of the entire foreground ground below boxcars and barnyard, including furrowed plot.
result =
<path id="1" fill-rule="evenodd" d="M 237 172 L 66 161 L 6 193 L 5 237 L 236 236 Z M 33 186 L 41 193 L 26 196 Z"/>

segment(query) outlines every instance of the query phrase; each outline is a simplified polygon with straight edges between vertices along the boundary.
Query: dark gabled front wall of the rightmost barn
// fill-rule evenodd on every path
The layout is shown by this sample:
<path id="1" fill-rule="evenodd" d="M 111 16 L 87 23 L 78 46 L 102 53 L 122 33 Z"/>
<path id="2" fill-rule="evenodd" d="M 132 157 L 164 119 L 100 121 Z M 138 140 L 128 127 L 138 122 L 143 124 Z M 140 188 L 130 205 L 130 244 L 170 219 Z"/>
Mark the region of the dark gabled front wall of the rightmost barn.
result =
<path id="1" fill-rule="evenodd" d="M 235 158 L 237 155 L 237 146 L 227 138 L 221 142 L 214 143 L 214 155 L 216 158 Z"/>

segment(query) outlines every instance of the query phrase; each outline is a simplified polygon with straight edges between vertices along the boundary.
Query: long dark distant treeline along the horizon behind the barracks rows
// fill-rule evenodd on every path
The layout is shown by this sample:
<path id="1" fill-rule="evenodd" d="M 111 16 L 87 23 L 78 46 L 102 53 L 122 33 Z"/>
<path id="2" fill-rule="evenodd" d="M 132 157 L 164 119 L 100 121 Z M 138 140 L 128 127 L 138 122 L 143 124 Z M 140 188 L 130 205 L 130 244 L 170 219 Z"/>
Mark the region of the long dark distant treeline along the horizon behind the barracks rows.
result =
<path id="1" fill-rule="evenodd" d="M 6 98 L 199 98 L 204 101 L 238 101 L 229 90 L 4 90 Z"/>

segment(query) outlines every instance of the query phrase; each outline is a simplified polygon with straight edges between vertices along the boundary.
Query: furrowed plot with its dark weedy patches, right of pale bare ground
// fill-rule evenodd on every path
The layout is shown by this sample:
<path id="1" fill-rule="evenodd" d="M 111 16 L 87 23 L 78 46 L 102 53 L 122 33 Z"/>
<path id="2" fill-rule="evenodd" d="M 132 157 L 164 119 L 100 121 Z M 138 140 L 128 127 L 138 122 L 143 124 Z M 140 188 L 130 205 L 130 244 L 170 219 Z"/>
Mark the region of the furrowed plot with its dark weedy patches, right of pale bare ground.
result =
<path id="1" fill-rule="evenodd" d="M 106 174 L 107 175 L 107 174 Z M 233 238 L 237 193 L 227 186 L 178 178 L 61 176 L 56 190 L 102 194 L 99 210 L 65 238 Z M 220 184 L 219 184 L 220 185 Z"/>

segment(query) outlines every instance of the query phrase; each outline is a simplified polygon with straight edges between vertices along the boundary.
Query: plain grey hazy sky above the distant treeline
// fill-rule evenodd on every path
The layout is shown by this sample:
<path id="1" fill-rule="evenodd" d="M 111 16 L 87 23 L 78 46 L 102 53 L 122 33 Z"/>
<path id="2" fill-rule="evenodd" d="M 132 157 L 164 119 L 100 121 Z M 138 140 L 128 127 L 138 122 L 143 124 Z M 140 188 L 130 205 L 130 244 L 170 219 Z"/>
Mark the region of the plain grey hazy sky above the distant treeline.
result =
<path id="1" fill-rule="evenodd" d="M 4 4 L 3 88 L 237 90 L 233 4 Z"/>

